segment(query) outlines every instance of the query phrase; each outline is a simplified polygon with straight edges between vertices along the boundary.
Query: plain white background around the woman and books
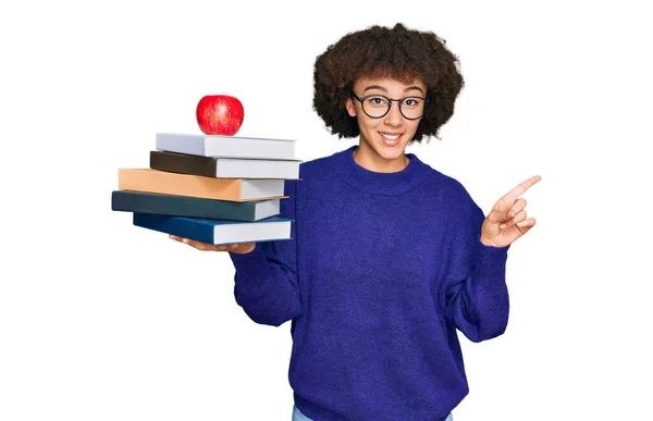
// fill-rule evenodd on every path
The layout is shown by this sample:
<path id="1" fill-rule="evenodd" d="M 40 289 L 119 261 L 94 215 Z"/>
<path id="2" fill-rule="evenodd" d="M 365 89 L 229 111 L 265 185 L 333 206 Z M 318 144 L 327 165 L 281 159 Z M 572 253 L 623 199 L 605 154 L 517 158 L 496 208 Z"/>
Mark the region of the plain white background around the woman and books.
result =
<path id="1" fill-rule="evenodd" d="M 289 420 L 289 324 L 251 322 L 226 255 L 132 226 L 110 193 L 157 132 L 199 133 L 208 94 L 299 159 L 353 145 L 312 111 L 315 58 L 395 22 L 445 38 L 467 83 L 442 140 L 409 151 L 485 211 L 542 176 L 507 332 L 460 335 L 455 420 L 653 419 L 645 2 L 451 3 L 3 5 L 0 420 Z"/>

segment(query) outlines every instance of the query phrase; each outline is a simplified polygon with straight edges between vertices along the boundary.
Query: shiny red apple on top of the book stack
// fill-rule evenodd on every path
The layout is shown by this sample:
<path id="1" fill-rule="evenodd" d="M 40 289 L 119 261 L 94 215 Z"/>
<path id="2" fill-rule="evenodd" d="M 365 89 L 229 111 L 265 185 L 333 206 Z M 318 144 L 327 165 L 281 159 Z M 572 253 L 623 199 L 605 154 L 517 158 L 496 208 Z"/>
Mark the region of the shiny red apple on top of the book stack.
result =
<path id="1" fill-rule="evenodd" d="M 233 136 L 243 124 L 245 110 L 238 98 L 207 95 L 197 103 L 197 124 L 205 135 Z"/>

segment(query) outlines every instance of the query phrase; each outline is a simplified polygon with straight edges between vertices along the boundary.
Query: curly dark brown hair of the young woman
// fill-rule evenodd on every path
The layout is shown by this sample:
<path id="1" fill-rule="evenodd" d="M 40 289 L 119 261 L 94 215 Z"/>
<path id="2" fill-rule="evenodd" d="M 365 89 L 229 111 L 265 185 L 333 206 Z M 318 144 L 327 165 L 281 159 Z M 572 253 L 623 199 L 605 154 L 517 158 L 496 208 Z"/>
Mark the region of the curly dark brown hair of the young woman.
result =
<path id="1" fill-rule="evenodd" d="M 438 138 L 464 86 L 458 58 L 445 44 L 432 32 L 408 29 L 401 23 L 346 34 L 316 60 L 313 110 L 338 138 L 356 137 L 358 124 L 345 107 L 356 79 L 387 77 L 405 84 L 421 79 L 431 103 L 410 143 L 420 143 L 424 135 Z"/>

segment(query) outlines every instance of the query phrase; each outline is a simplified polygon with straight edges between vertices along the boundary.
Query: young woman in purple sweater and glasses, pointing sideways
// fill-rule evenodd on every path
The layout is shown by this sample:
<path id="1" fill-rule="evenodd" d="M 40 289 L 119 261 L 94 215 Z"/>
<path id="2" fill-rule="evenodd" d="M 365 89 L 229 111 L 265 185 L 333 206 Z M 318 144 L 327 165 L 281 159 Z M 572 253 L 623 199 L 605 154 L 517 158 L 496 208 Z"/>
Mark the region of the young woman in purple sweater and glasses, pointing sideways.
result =
<path id="1" fill-rule="evenodd" d="M 229 251 L 235 298 L 257 323 L 292 321 L 294 420 L 442 421 L 468 393 L 457 331 L 472 342 L 508 320 L 509 245 L 534 224 L 519 196 L 488 216 L 456 179 L 406 146 L 436 136 L 463 87 L 429 32 L 350 33 L 315 65 L 315 109 L 359 144 L 305 162 L 286 182 L 292 240 Z"/>

